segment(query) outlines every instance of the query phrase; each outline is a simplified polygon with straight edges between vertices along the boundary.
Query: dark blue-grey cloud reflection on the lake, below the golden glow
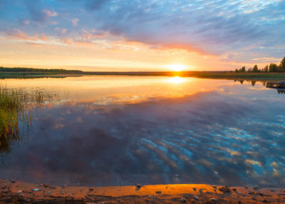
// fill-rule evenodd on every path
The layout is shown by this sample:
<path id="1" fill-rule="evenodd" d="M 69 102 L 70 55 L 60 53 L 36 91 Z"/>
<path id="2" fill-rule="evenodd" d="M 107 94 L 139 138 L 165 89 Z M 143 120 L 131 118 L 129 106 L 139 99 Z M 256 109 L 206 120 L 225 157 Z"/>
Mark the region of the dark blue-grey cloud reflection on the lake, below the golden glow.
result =
<path id="1" fill-rule="evenodd" d="M 86 185 L 280 186 L 283 105 L 281 98 L 260 94 L 221 86 L 179 97 L 142 97 L 136 103 L 112 103 L 122 99 L 113 96 L 105 98 L 108 103 L 49 106 L 38 116 L 46 120 L 46 131 L 16 149 L 7 169 L 44 172 L 35 182 L 53 176 L 82 178 Z"/>

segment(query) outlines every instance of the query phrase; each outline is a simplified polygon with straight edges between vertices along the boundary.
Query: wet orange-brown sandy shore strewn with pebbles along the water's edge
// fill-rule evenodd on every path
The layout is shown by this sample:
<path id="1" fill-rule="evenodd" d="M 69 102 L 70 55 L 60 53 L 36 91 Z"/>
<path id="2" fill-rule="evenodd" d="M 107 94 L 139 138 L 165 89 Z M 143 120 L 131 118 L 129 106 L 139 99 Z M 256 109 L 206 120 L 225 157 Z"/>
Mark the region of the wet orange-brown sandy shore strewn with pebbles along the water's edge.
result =
<path id="1" fill-rule="evenodd" d="M 182 184 L 90 189 L 51 185 L 45 187 L 45 184 L 12 183 L 11 180 L 0 182 L 0 203 L 285 203 L 285 193 L 281 188 Z M 22 192 L 17 193 L 19 190 Z"/>

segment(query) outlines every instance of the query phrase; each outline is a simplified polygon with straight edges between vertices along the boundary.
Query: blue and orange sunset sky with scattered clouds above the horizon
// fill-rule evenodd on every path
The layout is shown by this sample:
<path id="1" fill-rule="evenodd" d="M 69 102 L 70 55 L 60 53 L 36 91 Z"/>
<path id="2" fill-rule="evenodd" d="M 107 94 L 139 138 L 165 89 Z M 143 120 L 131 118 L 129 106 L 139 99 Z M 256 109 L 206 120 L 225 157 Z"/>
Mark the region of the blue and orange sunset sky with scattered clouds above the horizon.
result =
<path id="1" fill-rule="evenodd" d="M 229 71 L 285 56 L 285 1 L 0 0 L 0 66 Z"/>

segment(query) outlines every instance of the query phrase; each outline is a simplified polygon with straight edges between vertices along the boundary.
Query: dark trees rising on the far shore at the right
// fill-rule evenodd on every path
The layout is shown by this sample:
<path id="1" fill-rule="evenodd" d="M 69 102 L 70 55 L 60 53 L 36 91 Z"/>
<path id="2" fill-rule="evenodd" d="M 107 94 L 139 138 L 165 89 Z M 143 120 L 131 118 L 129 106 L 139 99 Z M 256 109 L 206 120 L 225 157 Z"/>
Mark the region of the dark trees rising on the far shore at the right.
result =
<path id="1" fill-rule="evenodd" d="M 233 71 L 230 71 L 233 72 Z M 236 68 L 234 71 L 236 73 L 242 73 L 246 72 L 245 67 L 239 68 L 239 70 Z M 259 73 L 259 72 L 285 72 L 285 57 L 282 59 L 282 61 L 277 65 L 276 63 L 270 63 L 269 66 L 266 65 L 264 68 L 259 69 L 257 65 L 254 65 L 254 68 L 249 68 L 247 71 L 249 73 Z"/>

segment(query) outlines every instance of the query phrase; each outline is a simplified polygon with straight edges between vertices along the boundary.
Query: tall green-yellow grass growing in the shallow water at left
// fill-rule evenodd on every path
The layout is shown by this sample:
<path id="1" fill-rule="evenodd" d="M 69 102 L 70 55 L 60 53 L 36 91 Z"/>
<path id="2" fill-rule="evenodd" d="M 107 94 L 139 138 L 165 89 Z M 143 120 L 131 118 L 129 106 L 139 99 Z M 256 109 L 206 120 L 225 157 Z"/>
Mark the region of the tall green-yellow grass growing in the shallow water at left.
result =
<path id="1" fill-rule="evenodd" d="M 0 85 L 0 155 L 11 152 L 11 146 L 18 142 L 20 128 L 29 131 L 33 111 L 43 107 L 42 91 L 9 89 Z M 21 126 L 21 127 L 20 127 Z"/>

